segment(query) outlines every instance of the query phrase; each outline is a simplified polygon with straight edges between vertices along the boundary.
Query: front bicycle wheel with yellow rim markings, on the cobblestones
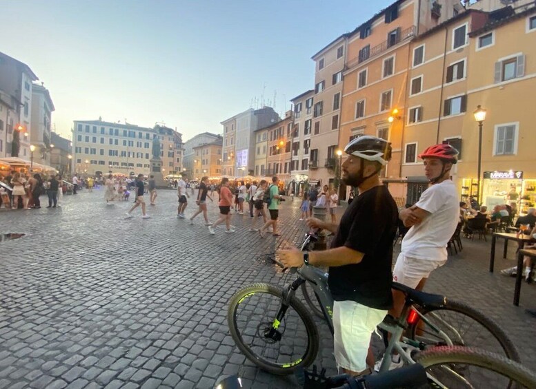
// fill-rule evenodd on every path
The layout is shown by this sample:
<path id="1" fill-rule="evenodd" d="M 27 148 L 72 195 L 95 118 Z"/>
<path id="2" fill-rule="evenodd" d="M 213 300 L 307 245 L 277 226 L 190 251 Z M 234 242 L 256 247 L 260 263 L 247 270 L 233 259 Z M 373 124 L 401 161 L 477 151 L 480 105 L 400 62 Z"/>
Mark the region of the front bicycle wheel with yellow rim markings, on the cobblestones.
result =
<path id="1" fill-rule="evenodd" d="M 241 288 L 230 299 L 227 322 L 232 339 L 254 364 L 272 374 L 290 375 L 312 364 L 319 335 L 304 304 L 295 297 L 280 322 L 283 290 L 269 284 Z M 270 329 L 277 334 L 268 336 Z"/>

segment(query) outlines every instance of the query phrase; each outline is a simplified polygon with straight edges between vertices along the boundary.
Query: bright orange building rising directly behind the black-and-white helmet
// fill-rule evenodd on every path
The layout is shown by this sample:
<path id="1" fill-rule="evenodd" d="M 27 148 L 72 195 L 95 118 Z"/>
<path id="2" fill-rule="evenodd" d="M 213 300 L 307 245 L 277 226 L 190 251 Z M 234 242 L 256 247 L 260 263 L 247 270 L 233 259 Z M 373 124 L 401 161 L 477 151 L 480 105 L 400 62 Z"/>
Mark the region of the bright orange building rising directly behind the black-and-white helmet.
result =
<path id="1" fill-rule="evenodd" d="M 408 73 L 413 59 L 410 43 L 459 10 L 459 1 L 445 1 L 443 6 L 435 1 L 395 1 L 348 34 L 339 146 L 361 135 L 389 140 L 393 158 L 382 172 L 386 181 L 400 178 L 406 96 L 411 83 L 418 81 Z"/>

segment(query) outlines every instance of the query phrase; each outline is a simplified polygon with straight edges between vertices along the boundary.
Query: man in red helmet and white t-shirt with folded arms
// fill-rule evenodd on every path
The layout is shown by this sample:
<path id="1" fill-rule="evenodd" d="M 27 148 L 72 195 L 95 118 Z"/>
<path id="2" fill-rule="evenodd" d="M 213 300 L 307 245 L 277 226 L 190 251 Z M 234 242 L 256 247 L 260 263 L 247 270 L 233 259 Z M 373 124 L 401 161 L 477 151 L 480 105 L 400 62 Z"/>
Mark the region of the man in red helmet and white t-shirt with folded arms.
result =
<path id="1" fill-rule="evenodd" d="M 447 260 L 446 244 L 459 222 L 459 201 L 450 169 L 458 161 L 454 147 L 441 144 L 428 147 L 419 154 L 424 162 L 424 175 L 432 184 L 421 194 L 413 207 L 399 211 L 404 226 L 411 227 L 402 240 L 393 281 L 421 291 L 430 273 Z M 389 313 L 399 317 L 406 296 L 393 290 L 393 309 Z M 400 356 L 393 354 L 390 368 L 402 365 Z M 375 370 L 381 361 L 375 364 Z"/>

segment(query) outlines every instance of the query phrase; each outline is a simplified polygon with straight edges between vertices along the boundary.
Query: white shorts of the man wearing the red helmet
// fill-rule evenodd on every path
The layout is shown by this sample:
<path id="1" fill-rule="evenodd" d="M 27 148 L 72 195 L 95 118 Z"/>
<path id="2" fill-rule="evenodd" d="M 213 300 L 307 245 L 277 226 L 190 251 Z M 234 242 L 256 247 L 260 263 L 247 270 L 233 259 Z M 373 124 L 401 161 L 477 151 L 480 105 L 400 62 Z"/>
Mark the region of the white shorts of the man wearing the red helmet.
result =
<path id="1" fill-rule="evenodd" d="M 430 273 L 444 264 L 446 260 L 419 260 L 399 253 L 395 269 L 393 269 L 393 281 L 415 289 L 423 278 L 428 278 Z"/>

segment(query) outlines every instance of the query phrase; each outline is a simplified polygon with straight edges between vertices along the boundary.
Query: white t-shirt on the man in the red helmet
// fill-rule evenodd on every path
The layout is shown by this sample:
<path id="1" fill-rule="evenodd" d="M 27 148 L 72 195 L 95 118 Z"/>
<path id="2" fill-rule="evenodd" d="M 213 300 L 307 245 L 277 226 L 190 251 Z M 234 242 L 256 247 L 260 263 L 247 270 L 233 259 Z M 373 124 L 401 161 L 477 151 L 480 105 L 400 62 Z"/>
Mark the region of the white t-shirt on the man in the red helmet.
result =
<path id="1" fill-rule="evenodd" d="M 445 180 L 432 185 L 415 205 L 430 215 L 406 233 L 401 253 L 421 260 L 446 260 L 446 244 L 459 222 L 459 200 L 454 182 Z"/>

